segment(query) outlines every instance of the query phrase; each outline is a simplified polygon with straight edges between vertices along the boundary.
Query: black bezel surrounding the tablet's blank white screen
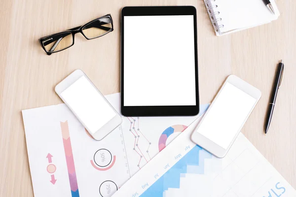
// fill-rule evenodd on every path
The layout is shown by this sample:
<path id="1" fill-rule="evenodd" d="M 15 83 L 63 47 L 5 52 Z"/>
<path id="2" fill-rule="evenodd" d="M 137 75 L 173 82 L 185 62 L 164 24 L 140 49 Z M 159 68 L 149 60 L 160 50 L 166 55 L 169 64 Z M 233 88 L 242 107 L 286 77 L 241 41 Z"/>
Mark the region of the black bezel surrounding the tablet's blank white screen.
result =
<path id="1" fill-rule="evenodd" d="M 196 105 L 182 106 L 124 106 L 124 16 L 193 15 Z M 123 116 L 194 116 L 199 113 L 197 22 L 193 6 L 123 7 L 121 10 L 121 114 Z"/>

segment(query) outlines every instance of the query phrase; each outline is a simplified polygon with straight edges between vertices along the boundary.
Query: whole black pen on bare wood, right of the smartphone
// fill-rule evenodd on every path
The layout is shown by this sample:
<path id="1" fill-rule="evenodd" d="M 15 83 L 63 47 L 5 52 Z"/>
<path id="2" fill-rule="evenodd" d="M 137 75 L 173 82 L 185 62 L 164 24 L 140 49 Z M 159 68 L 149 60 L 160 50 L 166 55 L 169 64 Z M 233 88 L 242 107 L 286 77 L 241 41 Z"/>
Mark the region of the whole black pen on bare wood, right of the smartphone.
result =
<path id="1" fill-rule="evenodd" d="M 275 100 L 276 100 L 278 90 L 280 89 L 280 87 L 282 85 L 283 76 L 284 76 L 284 68 L 285 68 L 285 65 L 283 64 L 283 60 L 281 60 L 281 63 L 278 65 L 278 68 L 276 71 L 275 80 L 274 80 L 273 88 L 272 88 L 272 93 L 270 96 L 270 102 L 269 102 L 268 112 L 267 112 L 266 122 L 265 122 L 265 134 L 267 133 L 268 128 L 270 126 L 270 122 L 271 122 L 272 113 L 273 113 L 273 109 L 275 106 Z"/>

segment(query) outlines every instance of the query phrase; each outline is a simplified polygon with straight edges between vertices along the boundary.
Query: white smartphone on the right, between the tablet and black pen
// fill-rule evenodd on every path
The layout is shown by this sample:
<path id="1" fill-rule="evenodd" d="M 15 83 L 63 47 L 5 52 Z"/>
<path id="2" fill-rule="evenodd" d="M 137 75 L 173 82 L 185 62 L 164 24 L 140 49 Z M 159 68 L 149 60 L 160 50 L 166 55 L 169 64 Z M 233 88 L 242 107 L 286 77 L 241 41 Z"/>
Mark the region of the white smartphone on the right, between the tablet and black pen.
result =
<path id="1" fill-rule="evenodd" d="M 191 140 L 216 157 L 225 157 L 260 97 L 257 88 L 235 75 L 228 76 Z"/>

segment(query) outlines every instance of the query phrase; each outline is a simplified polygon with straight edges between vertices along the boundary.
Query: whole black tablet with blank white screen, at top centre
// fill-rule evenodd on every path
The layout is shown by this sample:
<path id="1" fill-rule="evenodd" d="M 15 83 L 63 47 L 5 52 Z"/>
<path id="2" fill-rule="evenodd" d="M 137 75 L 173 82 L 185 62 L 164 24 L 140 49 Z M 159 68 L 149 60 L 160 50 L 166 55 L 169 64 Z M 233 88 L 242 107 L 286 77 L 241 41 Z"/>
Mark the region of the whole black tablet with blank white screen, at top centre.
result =
<path id="1" fill-rule="evenodd" d="M 195 7 L 122 8 L 121 113 L 199 113 Z"/>

